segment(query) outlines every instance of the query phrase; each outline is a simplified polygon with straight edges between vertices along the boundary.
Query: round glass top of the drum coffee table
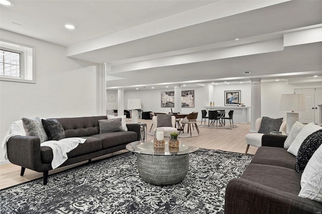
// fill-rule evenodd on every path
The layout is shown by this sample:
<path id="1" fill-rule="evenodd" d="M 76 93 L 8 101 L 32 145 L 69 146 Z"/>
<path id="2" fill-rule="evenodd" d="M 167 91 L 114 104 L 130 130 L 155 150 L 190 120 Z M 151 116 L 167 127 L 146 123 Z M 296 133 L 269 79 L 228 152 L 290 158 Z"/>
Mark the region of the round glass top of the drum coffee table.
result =
<path id="1" fill-rule="evenodd" d="M 169 147 L 169 141 L 166 141 L 164 149 L 154 148 L 153 141 L 135 141 L 126 145 L 126 149 L 145 155 L 185 155 L 195 152 L 199 149 L 197 146 L 188 146 L 180 141 L 178 148 Z"/>

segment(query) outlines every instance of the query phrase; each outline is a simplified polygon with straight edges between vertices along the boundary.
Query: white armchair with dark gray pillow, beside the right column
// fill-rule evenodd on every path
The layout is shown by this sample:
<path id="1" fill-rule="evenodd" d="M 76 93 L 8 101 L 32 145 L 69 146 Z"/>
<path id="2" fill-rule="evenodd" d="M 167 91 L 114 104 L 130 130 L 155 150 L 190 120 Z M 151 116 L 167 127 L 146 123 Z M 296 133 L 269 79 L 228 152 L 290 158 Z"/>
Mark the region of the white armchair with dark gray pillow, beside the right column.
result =
<path id="1" fill-rule="evenodd" d="M 268 123 L 265 123 L 264 126 L 262 125 L 262 119 L 265 118 L 265 121 L 268 121 Z M 257 133 L 250 133 L 245 136 L 247 148 L 245 154 L 247 154 L 248 149 L 250 146 L 255 147 L 261 147 L 262 146 L 262 137 L 264 134 L 269 134 L 273 131 L 279 131 L 279 132 L 286 132 L 286 121 L 282 121 L 283 118 L 280 119 L 271 119 L 267 117 L 258 118 L 255 122 L 255 129 Z"/>

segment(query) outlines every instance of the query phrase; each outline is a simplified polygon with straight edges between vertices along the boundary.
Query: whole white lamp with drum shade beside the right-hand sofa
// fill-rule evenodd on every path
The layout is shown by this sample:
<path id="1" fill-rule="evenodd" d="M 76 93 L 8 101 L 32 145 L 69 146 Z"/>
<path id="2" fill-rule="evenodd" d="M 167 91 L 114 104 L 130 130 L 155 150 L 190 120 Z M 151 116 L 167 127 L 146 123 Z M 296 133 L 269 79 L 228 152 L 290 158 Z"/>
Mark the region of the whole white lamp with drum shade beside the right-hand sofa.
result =
<path id="1" fill-rule="evenodd" d="M 280 110 L 291 111 L 286 114 L 286 133 L 288 134 L 296 121 L 298 113 L 294 111 L 305 111 L 305 94 L 282 94 Z"/>

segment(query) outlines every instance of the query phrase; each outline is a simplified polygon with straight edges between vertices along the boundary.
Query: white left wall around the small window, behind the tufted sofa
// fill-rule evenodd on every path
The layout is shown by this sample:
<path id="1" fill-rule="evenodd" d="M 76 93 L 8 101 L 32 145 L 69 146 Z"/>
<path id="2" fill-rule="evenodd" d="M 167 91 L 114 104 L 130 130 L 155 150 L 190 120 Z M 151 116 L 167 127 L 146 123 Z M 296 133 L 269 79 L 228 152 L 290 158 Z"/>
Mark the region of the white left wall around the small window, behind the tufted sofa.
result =
<path id="1" fill-rule="evenodd" d="M 23 117 L 98 115 L 97 67 L 65 57 L 64 47 L 1 30 L 1 38 L 36 48 L 36 84 L 0 81 L 0 140 Z M 4 161 L 0 151 L 0 163 Z"/>

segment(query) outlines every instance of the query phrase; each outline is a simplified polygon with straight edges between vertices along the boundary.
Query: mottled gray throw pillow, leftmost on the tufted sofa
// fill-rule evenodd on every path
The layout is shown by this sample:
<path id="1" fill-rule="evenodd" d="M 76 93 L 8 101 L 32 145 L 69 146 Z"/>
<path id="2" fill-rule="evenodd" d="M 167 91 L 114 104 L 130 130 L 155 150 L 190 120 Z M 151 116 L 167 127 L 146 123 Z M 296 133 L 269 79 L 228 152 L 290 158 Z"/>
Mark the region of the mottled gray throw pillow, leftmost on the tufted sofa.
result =
<path id="1" fill-rule="evenodd" d="M 22 122 L 29 136 L 36 136 L 40 143 L 48 140 L 47 134 L 42 126 L 40 118 L 23 118 Z"/>

